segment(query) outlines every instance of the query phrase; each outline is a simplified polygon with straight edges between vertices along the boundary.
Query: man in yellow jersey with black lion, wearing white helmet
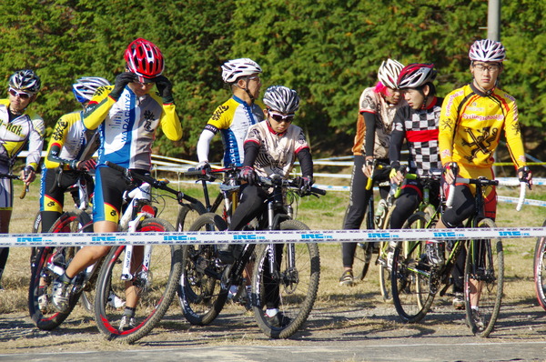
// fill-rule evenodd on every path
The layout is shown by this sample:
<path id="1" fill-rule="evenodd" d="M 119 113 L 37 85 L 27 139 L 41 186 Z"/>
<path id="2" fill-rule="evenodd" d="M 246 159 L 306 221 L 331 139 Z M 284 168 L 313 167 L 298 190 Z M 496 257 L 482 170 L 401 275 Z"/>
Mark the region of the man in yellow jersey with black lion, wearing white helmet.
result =
<path id="1" fill-rule="evenodd" d="M 518 177 L 531 182 L 521 140 L 518 107 L 516 100 L 497 88 L 499 75 L 503 71 L 502 61 L 505 49 L 500 42 L 490 39 L 477 40 L 470 46 L 470 73 L 473 80 L 446 96 L 440 113 L 440 159 L 444 168 L 444 181 L 448 185 L 456 175 L 494 178 L 493 154 L 501 138 L 506 134 L 508 149 Z M 456 185 L 453 206 L 440 217 L 438 228 L 456 227 L 469 217 L 474 210 L 475 187 Z M 496 216 L 497 196 L 494 187 L 485 195 L 485 213 L 492 219 Z M 438 253 L 439 242 L 430 240 L 427 251 L 431 262 L 443 263 Z M 463 254 L 463 253 L 461 253 Z M 461 285 L 462 257 L 454 269 L 455 287 Z M 470 304 L 478 316 L 479 292 L 477 287 L 470 291 Z"/>

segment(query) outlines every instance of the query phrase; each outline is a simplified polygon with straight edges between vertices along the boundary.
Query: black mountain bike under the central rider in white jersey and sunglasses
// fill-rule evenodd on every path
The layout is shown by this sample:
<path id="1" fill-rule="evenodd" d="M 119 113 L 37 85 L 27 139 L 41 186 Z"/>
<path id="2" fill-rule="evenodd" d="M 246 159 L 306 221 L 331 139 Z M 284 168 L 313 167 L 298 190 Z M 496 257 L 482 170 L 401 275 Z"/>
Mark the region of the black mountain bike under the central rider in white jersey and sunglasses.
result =
<path id="1" fill-rule="evenodd" d="M 326 192 L 312 187 L 309 194 L 302 193 L 293 180 L 261 177 L 264 187 L 273 187 L 268 197 L 267 210 L 258 217 L 258 230 L 308 230 L 305 224 L 293 220 L 289 196 L 283 198 L 283 190 L 299 196 L 325 195 Z M 252 227 L 252 226 L 250 226 Z M 191 230 L 224 230 L 225 220 L 216 214 L 199 216 Z M 246 228 L 248 230 L 250 228 Z M 245 230 L 245 229 L 244 229 Z M 243 270 L 253 255 L 256 255 L 252 276 L 252 309 L 260 329 L 273 338 L 288 338 L 307 320 L 313 307 L 319 288 L 320 259 L 319 246 L 314 243 L 287 243 L 257 246 L 256 244 L 239 245 L 234 264 L 223 266 L 217 263 L 217 256 L 203 258 L 185 258 L 185 263 L 192 263 L 191 268 L 200 268 L 205 282 L 199 283 L 200 293 L 184 286 L 183 293 L 187 304 L 187 316 L 195 318 L 194 324 L 208 324 L 219 314 L 226 303 L 228 288 L 242 286 Z M 185 267 L 186 269 L 186 267 Z M 283 327 L 273 327 L 264 316 L 264 307 L 272 299 L 278 298 L 278 309 L 290 323 Z M 198 310 L 197 307 L 199 308 Z M 193 312 L 193 313 L 192 313 Z"/>

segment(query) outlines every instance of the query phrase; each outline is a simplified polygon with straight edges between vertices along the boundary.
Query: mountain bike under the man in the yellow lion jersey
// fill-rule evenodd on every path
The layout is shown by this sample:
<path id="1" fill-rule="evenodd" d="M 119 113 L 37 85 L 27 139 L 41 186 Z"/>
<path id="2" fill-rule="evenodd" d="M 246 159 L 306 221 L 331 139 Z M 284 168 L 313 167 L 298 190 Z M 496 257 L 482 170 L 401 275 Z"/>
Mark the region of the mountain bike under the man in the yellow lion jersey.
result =
<path id="1" fill-rule="evenodd" d="M 499 181 L 485 177 L 460 178 L 457 183 L 476 186 L 476 206 L 465 227 L 495 227 L 490 218 L 484 216 L 483 189 L 497 186 Z M 453 192 L 450 192 L 453 195 Z M 440 208 L 431 218 L 418 212 L 408 219 L 408 228 L 435 226 L 437 217 L 443 210 L 445 197 L 441 196 Z M 448 201 L 449 202 L 449 201 Z M 468 242 L 456 240 L 449 242 L 450 251 L 444 257 L 445 263 L 429 261 L 425 252 L 425 241 L 400 242 L 395 248 L 391 278 L 394 306 L 399 316 L 408 323 L 419 322 L 429 312 L 437 294 L 446 295 L 453 280 L 451 270 L 461 252 L 466 251 L 464 268 L 464 295 L 467 322 L 472 333 L 488 337 L 492 331 L 501 308 L 504 281 L 504 258 L 500 238 L 473 239 Z M 443 253 L 440 252 L 440 254 Z M 396 282 L 395 282 L 396 281 Z M 480 314 L 472 309 L 470 298 L 478 293 Z"/>

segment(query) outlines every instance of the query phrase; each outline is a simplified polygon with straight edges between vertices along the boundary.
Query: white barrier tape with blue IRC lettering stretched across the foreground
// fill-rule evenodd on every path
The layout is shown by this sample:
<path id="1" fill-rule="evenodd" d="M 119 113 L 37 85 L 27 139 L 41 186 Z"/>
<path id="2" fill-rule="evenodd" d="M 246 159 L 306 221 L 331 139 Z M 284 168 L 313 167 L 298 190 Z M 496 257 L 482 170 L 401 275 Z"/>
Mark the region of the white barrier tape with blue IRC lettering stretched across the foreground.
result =
<path id="1" fill-rule="evenodd" d="M 66 233 L 0 234 L 0 246 L 119 246 L 187 244 L 280 244 L 327 242 L 375 242 L 410 240 L 470 240 L 544 237 L 546 227 L 387 229 L 387 230 L 287 230 L 211 231 L 165 233 Z"/>

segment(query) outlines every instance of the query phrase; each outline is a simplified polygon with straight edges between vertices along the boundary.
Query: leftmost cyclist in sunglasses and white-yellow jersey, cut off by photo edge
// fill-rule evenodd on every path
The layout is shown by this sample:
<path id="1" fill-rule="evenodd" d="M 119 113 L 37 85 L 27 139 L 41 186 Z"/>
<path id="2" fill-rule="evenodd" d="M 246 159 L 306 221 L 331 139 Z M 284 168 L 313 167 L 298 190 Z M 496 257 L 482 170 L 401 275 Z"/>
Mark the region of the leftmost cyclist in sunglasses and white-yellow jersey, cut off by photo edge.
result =
<path id="1" fill-rule="evenodd" d="M 44 120 L 28 106 L 40 90 L 40 77 L 30 69 L 16 71 L 9 78 L 8 97 L 0 99 L 0 173 L 12 172 L 17 155 L 28 145 L 25 169 L 21 179 L 25 186 L 35 180 L 44 144 Z M 0 233 L 9 233 L 14 206 L 13 182 L 0 178 Z M 9 255 L 8 247 L 0 247 L 0 281 Z M 2 287 L 0 287 L 2 288 Z"/>

